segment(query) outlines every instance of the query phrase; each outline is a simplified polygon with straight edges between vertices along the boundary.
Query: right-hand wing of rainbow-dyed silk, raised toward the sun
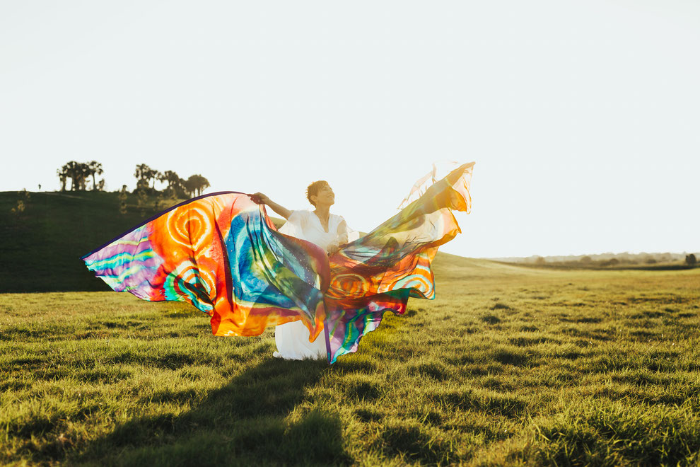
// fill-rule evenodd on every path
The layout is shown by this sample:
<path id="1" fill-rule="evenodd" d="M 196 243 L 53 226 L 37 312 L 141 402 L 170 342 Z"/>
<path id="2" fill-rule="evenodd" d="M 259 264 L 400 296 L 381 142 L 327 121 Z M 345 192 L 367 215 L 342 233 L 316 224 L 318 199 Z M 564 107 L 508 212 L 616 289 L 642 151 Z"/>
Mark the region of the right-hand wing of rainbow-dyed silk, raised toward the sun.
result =
<path id="1" fill-rule="evenodd" d="M 355 352 L 385 311 L 403 314 L 409 296 L 434 298 L 430 265 L 438 246 L 461 232 L 452 210 L 471 208 L 473 166 L 456 168 L 394 217 L 332 255 L 325 300 L 329 362 Z"/>

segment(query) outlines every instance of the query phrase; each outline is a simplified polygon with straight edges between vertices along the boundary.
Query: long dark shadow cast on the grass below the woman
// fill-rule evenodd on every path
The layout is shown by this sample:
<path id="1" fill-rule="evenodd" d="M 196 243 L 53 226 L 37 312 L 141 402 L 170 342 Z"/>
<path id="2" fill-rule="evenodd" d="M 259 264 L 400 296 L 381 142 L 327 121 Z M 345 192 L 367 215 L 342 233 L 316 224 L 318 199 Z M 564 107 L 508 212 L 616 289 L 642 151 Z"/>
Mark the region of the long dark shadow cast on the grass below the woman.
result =
<path id="1" fill-rule="evenodd" d="M 137 417 L 82 450 L 78 463 L 107 465 L 347 464 L 342 423 L 329 410 L 294 410 L 308 400 L 325 362 L 267 359 L 197 402 L 191 391 Z M 168 413 L 168 403 L 192 409 Z M 308 405 L 311 406 L 310 404 Z M 301 408 L 300 408 L 301 409 Z"/>

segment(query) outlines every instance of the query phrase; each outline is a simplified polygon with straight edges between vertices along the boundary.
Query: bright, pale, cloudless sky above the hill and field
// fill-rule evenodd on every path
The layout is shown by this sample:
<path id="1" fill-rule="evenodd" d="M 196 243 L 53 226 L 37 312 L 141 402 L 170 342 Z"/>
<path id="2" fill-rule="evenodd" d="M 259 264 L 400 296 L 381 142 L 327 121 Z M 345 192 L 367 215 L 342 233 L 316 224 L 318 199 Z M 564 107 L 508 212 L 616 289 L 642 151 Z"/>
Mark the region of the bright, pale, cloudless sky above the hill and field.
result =
<path id="1" fill-rule="evenodd" d="M 137 163 L 368 231 L 476 161 L 471 257 L 700 250 L 700 2 L 4 1 L 0 190 Z"/>

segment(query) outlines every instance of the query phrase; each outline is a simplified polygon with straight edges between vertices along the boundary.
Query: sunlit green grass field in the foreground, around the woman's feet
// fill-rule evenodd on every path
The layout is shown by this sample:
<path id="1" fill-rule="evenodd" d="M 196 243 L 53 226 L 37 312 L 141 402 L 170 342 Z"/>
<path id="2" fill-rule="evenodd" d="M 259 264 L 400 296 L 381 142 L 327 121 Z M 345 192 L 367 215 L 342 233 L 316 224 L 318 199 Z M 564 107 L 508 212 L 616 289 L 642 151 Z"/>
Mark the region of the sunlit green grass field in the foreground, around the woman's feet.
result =
<path id="1" fill-rule="evenodd" d="M 700 462 L 700 270 L 435 266 L 332 367 L 182 304 L 2 294 L 0 463 Z"/>

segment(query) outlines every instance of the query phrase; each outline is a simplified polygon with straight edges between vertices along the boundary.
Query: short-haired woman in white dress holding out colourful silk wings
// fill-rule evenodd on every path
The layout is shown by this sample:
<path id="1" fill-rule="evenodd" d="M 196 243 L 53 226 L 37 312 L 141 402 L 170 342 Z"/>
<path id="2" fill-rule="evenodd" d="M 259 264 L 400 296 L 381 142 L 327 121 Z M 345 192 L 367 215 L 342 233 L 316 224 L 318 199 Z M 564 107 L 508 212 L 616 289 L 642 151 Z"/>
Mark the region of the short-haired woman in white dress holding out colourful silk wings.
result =
<path id="1" fill-rule="evenodd" d="M 324 249 L 328 255 L 336 253 L 340 245 L 347 243 L 349 230 L 345 219 L 329 211 L 335 203 L 332 188 L 325 180 L 318 180 L 308 186 L 306 198 L 315 207 L 313 211 L 290 211 L 262 193 L 251 196 L 253 201 L 266 204 L 287 219 L 284 226 L 279 229 L 281 233 L 310 241 Z M 274 357 L 290 360 L 326 358 L 327 348 L 323 335 L 309 342 L 309 330 L 301 321 L 277 325 L 274 339 L 277 345 Z"/>

